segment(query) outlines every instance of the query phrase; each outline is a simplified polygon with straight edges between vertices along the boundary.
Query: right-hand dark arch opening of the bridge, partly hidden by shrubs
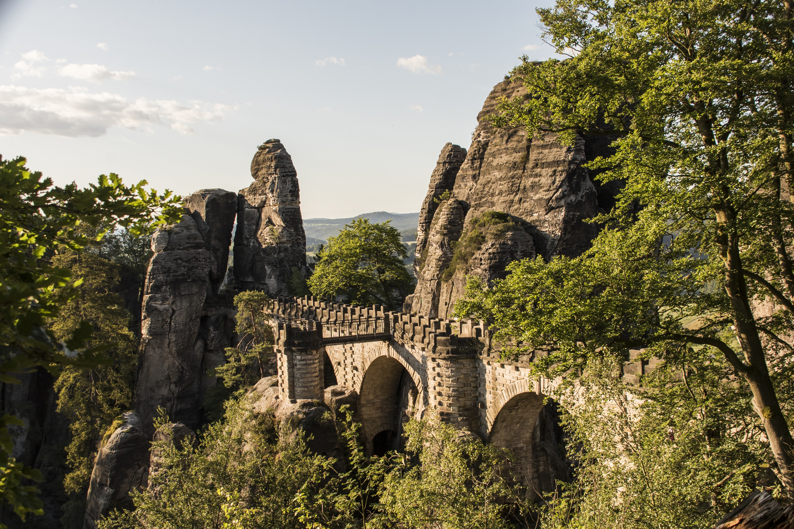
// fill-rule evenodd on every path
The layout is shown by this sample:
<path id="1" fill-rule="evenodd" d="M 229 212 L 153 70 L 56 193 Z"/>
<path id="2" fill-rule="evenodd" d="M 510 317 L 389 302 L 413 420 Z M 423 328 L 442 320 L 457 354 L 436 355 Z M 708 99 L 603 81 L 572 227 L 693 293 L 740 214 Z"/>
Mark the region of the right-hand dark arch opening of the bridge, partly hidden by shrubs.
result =
<path id="1" fill-rule="evenodd" d="M 557 481 L 571 481 L 572 466 L 565 458 L 565 436 L 557 403 L 537 393 L 519 393 L 496 416 L 488 441 L 515 455 L 514 477 L 531 496 L 550 493 Z"/>

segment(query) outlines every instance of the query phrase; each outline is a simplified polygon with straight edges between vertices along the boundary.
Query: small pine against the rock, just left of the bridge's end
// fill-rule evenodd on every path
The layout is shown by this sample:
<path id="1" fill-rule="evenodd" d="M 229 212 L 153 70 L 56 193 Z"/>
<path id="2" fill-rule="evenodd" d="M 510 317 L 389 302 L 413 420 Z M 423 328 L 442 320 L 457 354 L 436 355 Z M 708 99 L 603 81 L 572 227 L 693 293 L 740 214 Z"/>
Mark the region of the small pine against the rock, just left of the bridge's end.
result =
<path id="1" fill-rule="evenodd" d="M 226 388 L 247 389 L 268 376 L 268 362 L 273 358 L 273 328 L 270 324 L 272 301 L 268 294 L 249 290 L 234 297 L 237 309 L 237 347 L 227 347 L 226 363 L 215 368 Z"/>

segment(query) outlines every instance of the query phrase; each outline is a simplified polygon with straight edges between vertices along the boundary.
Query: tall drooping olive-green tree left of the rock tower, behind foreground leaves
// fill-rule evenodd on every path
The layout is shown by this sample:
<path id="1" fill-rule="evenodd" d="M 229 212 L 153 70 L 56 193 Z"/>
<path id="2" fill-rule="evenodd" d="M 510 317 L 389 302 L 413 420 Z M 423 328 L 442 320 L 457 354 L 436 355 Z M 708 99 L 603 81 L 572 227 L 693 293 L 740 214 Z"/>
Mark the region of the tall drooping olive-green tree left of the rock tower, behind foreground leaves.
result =
<path id="1" fill-rule="evenodd" d="M 56 380 L 58 412 L 69 420 L 71 441 L 67 446 L 64 477 L 67 492 L 85 492 L 98 442 L 114 418 L 133 403 L 137 361 L 137 339 L 129 331 L 130 315 L 113 289 L 118 285 L 119 266 L 90 252 L 67 250 L 52 259 L 54 266 L 69 270 L 79 281 L 79 296 L 67 301 L 49 329 L 64 340 L 81 322 L 93 332 L 86 347 L 105 351 L 105 362 L 87 369 L 67 366 Z"/>

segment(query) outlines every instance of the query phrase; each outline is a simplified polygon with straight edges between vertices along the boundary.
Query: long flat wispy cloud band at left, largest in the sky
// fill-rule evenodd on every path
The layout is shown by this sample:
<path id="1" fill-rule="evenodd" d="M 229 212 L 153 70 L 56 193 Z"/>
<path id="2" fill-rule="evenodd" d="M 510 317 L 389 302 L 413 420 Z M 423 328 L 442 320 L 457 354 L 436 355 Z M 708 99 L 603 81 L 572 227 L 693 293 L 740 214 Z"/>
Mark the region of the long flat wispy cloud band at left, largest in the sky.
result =
<path id="1" fill-rule="evenodd" d="M 152 125 L 192 134 L 191 125 L 223 119 L 237 106 L 191 101 L 129 101 L 121 95 L 72 88 L 0 86 L 0 134 L 37 132 L 102 136 L 113 126 L 150 131 Z"/>

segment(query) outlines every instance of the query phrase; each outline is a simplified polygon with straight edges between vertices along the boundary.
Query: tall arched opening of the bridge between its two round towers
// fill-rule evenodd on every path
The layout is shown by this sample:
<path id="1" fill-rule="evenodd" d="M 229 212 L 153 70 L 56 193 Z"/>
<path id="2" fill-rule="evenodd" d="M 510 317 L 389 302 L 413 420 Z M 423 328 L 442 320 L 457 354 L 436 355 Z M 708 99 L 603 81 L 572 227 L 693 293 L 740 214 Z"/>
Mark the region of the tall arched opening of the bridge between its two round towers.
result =
<path id="1" fill-rule="evenodd" d="M 418 396 L 403 364 L 387 356 L 372 361 L 358 397 L 364 447 L 369 454 L 403 450 L 403 425 L 415 415 Z"/>

